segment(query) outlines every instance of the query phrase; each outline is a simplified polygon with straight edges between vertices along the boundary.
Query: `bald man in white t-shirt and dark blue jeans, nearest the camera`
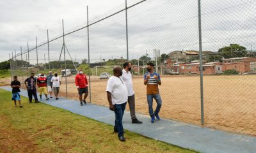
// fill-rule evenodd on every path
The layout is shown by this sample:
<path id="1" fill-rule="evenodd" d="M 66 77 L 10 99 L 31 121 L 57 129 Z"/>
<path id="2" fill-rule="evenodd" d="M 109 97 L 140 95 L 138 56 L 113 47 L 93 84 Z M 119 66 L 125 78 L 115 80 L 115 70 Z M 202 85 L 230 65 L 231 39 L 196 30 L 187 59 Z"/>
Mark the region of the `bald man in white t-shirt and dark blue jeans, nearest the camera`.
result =
<path id="1" fill-rule="evenodd" d="M 127 88 L 125 86 L 122 76 L 122 69 L 116 66 L 113 69 L 113 76 L 109 78 L 107 84 L 107 96 L 109 102 L 109 110 L 115 112 L 115 127 L 114 131 L 118 132 L 118 138 L 121 142 L 125 141 L 123 128 L 123 115 L 128 99 Z"/>

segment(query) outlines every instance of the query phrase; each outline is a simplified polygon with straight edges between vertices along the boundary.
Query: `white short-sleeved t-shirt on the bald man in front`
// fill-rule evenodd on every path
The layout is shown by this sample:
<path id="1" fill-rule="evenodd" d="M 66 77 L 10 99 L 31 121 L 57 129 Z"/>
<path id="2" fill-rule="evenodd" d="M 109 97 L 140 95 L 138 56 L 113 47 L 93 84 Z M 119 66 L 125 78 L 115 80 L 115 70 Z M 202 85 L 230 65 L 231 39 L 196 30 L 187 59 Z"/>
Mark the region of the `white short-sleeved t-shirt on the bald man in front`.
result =
<path id="1" fill-rule="evenodd" d="M 128 100 L 127 87 L 124 80 L 120 77 L 110 77 L 106 91 L 111 92 L 113 105 L 122 104 Z"/>

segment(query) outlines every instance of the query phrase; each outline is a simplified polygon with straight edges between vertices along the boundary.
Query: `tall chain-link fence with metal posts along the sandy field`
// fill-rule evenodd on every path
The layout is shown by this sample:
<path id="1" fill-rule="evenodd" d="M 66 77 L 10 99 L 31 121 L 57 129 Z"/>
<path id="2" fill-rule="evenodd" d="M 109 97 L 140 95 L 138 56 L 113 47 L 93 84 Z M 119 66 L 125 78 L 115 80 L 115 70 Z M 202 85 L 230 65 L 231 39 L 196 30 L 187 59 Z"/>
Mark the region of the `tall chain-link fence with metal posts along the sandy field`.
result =
<path id="1" fill-rule="evenodd" d="M 255 10 L 250 0 L 127 1 L 15 50 L 12 76 L 24 82 L 31 72 L 57 71 L 61 96 L 77 99 L 74 76 L 82 68 L 90 82 L 88 101 L 108 106 L 104 78 L 131 61 L 136 112 L 148 114 L 143 75 L 153 62 L 162 81 L 161 117 L 256 135 Z"/>

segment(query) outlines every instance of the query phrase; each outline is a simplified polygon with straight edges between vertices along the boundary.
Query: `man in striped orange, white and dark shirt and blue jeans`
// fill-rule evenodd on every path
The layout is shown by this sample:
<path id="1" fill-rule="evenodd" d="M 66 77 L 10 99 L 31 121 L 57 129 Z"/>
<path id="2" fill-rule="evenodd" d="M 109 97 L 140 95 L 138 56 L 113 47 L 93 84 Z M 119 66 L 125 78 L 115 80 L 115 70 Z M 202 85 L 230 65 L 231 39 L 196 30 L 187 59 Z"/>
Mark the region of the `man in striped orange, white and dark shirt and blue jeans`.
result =
<path id="1" fill-rule="evenodd" d="M 147 64 L 147 73 L 144 75 L 144 84 L 147 85 L 147 101 L 148 101 L 148 112 L 151 117 L 151 122 L 155 122 L 155 117 L 160 120 L 158 113 L 162 106 L 162 99 L 159 94 L 158 85 L 161 85 L 160 75 L 154 72 L 154 64 Z M 156 110 L 153 111 L 153 99 L 156 100 Z"/>

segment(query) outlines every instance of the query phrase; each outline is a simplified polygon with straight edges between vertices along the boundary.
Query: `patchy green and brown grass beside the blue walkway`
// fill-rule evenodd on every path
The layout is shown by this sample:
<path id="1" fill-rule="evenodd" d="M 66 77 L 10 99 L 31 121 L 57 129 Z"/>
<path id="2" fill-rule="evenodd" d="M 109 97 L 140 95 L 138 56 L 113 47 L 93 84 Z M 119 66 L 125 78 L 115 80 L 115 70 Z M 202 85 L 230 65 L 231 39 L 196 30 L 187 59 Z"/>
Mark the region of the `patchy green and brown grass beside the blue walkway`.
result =
<path id="1" fill-rule="evenodd" d="M 3 89 L 0 96 L 0 152 L 195 152 L 130 131 L 120 142 L 108 124 L 24 97 L 15 107 Z"/>

